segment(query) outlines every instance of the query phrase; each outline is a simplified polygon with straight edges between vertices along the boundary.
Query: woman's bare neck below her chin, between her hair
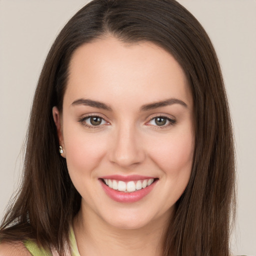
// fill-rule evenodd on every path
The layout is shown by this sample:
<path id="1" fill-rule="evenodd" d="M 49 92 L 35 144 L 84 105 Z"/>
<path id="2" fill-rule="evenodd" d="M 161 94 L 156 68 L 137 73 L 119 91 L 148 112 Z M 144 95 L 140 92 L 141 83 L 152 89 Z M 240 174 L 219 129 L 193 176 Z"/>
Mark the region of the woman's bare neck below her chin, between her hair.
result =
<path id="1" fill-rule="evenodd" d="M 94 212 L 79 211 L 73 222 L 81 256 L 159 256 L 168 216 L 151 221 L 146 226 L 125 229 L 106 223 Z"/>

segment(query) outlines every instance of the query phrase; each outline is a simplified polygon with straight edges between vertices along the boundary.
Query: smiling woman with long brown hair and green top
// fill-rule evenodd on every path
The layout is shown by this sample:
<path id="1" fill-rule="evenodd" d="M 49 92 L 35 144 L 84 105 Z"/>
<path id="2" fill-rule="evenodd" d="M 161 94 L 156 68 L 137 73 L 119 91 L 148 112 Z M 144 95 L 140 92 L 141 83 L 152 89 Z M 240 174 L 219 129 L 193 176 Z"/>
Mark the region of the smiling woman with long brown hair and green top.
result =
<path id="1" fill-rule="evenodd" d="M 229 255 L 233 199 L 227 100 L 199 22 L 174 0 L 84 6 L 38 81 L 2 254 Z"/>

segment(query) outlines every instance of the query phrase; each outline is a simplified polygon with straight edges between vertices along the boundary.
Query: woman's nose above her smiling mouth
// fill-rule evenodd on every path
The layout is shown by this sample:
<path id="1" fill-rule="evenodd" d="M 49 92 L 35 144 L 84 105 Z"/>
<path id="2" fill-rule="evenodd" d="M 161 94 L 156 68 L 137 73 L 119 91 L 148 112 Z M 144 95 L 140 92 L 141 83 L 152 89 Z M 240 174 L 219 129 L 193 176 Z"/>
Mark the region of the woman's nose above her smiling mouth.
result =
<path id="1" fill-rule="evenodd" d="M 143 143 L 135 127 L 122 125 L 111 139 L 109 160 L 123 168 L 141 163 L 145 158 Z"/>

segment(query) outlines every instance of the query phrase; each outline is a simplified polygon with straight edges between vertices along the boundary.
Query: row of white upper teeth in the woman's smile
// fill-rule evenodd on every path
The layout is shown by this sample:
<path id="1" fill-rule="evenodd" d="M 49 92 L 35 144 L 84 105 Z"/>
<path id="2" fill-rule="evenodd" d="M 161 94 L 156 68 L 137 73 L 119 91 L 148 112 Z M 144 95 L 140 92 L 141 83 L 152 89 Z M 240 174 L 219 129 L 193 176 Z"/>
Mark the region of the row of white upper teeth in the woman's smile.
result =
<path id="1" fill-rule="evenodd" d="M 143 180 L 137 180 L 137 181 L 128 181 L 125 183 L 122 180 L 114 180 L 114 179 L 105 179 L 104 181 L 106 185 L 108 185 L 110 188 L 124 191 L 124 192 L 134 192 L 136 190 L 145 188 L 146 186 L 149 186 L 153 183 L 154 179 L 143 179 Z"/>

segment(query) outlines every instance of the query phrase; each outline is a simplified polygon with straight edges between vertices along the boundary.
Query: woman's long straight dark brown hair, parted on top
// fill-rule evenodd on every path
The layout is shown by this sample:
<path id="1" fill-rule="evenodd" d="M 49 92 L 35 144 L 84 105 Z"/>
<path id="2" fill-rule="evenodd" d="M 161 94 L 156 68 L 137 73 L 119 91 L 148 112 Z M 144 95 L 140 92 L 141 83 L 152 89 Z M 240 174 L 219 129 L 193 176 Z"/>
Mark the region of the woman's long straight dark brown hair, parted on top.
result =
<path id="1" fill-rule="evenodd" d="M 81 196 L 58 153 L 52 107 L 62 109 L 68 65 L 81 44 L 111 34 L 151 41 L 183 68 L 194 102 L 191 177 L 163 237 L 163 255 L 229 255 L 234 213 L 234 148 L 218 59 L 200 23 L 175 0 L 93 0 L 60 31 L 43 65 L 26 140 L 23 181 L 0 226 L 0 239 L 34 239 L 64 253 Z"/>

